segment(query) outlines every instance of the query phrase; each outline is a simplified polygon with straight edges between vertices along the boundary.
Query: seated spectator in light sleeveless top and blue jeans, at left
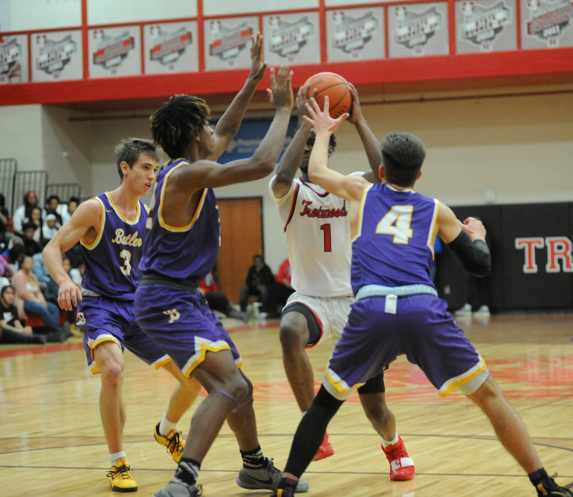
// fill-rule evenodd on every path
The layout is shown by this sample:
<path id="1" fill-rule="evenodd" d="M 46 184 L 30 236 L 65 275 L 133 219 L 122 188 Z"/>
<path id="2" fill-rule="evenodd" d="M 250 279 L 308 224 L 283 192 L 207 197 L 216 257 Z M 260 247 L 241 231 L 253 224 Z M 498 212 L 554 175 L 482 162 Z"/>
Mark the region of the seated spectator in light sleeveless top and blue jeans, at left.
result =
<path id="1" fill-rule="evenodd" d="M 66 341 L 73 335 L 69 323 L 60 326 L 60 308 L 52 302 L 46 302 L 33 268 L 32 257 L 25 256 L 22 268 L 12 276 L 18 317 L 24 322 L 28 315 L 39 317 L 48 329 L 48 341 Z"/>

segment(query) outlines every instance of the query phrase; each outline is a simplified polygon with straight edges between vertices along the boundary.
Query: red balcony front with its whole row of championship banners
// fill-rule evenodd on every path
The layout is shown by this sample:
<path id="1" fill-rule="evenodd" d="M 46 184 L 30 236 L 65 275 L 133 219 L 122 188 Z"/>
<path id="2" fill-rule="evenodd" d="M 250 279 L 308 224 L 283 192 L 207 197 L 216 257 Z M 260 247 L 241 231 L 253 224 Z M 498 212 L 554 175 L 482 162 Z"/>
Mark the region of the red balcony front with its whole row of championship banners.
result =
<path id="1" fill-rule="evenodd" d="M 224 16 L 205 15 L 198 0 L 195 17 L 105 25 L 88 23 L 88 1 L 80 25 L 0 34 L 0 105 L 233 94 L 257 31 L 270 65 L 291 63 L 295 86 L 319 69 L 376 95 L 573 80 L 568 0 L 320 0 Z"/>

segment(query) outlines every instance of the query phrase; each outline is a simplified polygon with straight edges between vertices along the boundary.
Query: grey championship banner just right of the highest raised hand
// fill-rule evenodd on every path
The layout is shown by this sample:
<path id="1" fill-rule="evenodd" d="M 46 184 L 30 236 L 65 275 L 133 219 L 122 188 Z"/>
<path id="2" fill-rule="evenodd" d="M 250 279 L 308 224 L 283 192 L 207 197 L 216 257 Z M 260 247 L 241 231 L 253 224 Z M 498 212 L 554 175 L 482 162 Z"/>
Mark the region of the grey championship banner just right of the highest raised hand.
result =
<path id="1" fill-rule="evenodd" d="M 262 26 L 270 66 L 320 63 L 318 13 L 264 15 Z"/>

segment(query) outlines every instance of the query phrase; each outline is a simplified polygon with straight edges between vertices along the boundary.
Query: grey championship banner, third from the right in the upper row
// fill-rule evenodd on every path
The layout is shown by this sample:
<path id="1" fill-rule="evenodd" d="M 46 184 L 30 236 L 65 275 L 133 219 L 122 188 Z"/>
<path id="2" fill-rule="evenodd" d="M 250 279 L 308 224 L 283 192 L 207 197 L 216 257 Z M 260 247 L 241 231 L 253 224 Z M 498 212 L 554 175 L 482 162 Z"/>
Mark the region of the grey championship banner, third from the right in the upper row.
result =
<path id="1" fill-rule="evenodd" d="M 390 57 L 448 55 L 448 3 L 388 7 Z"/>

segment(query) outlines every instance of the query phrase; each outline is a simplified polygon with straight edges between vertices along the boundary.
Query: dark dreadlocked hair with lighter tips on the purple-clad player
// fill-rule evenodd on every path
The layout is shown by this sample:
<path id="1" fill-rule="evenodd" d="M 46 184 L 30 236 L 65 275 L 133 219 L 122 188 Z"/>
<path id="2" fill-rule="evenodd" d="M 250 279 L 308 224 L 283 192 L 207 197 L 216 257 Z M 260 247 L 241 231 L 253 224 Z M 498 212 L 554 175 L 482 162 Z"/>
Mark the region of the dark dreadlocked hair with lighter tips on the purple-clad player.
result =
<path id="1" fill-rule="evenodd" d="M 210 118 L 211 110 L 202 98 L 174 95 L 150 117 L 151 136 L 170 159 L 176 159 Z"/>

